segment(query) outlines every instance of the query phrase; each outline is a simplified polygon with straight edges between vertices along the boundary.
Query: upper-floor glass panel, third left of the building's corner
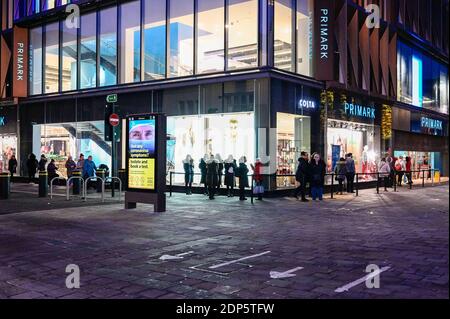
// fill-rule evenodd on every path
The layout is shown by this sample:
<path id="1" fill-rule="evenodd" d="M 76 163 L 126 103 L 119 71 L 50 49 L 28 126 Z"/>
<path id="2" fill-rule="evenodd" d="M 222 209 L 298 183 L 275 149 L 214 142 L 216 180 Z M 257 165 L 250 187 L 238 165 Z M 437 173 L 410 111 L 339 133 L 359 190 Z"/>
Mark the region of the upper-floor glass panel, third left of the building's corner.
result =
<path id="1" fill-rule="evenodd" d="M 194 1 L 170 1 L 169 77 L 193 74 Z"/>

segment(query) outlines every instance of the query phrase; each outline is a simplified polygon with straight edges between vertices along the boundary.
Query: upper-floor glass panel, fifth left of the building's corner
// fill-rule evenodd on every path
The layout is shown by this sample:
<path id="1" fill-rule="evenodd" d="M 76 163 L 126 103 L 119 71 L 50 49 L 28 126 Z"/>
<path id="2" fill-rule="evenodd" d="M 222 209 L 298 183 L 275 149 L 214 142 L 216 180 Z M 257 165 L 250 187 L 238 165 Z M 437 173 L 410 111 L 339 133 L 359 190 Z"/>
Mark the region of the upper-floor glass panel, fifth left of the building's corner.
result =
<path id="1" fill-rule="evenodd" d="M 140 1 L 120 6 L 120 82 L 141 79 L 141 8 Z"/>

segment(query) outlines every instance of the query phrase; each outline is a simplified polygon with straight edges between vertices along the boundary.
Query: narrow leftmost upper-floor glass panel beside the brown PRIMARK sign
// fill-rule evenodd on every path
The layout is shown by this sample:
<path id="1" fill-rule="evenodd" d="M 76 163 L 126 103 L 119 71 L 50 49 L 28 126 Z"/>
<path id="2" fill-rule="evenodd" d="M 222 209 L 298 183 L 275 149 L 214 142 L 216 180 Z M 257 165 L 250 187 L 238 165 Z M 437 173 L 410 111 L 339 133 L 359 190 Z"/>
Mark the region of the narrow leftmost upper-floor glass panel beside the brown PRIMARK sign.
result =
<path id="1" fill-rule="evenodd" d="M 30 30 L 30 95 L 42 94 L 42 27 Z"/>

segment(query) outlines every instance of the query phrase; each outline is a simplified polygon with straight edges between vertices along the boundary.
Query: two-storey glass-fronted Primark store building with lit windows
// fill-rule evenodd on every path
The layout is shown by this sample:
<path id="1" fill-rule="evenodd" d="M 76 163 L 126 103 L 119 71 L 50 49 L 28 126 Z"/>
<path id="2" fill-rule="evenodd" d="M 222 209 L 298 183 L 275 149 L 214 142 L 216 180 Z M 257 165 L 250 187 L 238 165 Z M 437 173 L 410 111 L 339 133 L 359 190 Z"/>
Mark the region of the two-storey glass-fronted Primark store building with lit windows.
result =
<path id="1" fill-rule="evenodd" d="M 168 170 L 218 153 L 292 174 L 307 151 L 370 173 L 389 152 L 448 176 L 448 0 L 1 0 L 0 16 L 3 169 L 32 152 L 110 166 L 117 93 L 122 116 L 168 115 Z"/>

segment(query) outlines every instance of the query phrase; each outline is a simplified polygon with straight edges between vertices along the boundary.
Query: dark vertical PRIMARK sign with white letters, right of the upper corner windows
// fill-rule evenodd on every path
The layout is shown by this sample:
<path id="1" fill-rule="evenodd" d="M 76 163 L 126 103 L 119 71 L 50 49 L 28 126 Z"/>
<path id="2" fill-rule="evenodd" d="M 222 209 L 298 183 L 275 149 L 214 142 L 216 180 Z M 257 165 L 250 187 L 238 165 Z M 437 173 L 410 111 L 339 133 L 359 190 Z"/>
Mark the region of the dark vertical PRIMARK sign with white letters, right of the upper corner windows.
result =
<path id="1" fill-rule="evenodd" d="M 314 75 L 334 80 L 334 0 L 314 1 Z"/>

